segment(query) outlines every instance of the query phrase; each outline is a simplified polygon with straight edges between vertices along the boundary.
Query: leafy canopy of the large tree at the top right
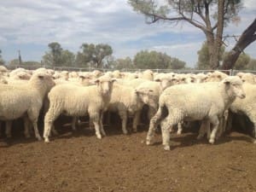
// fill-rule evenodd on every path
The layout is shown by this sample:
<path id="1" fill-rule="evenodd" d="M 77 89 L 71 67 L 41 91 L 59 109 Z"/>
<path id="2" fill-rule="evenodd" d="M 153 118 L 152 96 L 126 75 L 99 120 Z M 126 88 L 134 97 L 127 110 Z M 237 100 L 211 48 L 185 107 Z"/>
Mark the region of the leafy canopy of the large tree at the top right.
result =
<path id="1" fill-rule="evenodd" d="M 145 15 L 146 20 L 151 20 L 150 22 L 170 20 L 171 18 L 177 18 L 177 20 L 170 20 L 177 22 L 178 20 L 183 20 L 180 19 L 181 17 L 200 21 L 200 19 L 196 18 L 195 15 L 203 15 L 204 13 L 207 13 L 208 10 L 211 11 L 210 15 L 212 15 L 212 20 L 217 20 L 218 15 L 218 9 L 216 9 L 216 6 L 218 6 L 218 0 L 168 0 L 165 4 L 160 4 L 159 1 L 154 0 L 128 0 L 128 3 L 135 11 Z M 236 21 L 237 14 L 241 8 L 241 0 L 225 0 L 225 24 L 227 24 L 230 20 Z M 178 16 L 173 16 L 173 12 L 176 12 Z"/>

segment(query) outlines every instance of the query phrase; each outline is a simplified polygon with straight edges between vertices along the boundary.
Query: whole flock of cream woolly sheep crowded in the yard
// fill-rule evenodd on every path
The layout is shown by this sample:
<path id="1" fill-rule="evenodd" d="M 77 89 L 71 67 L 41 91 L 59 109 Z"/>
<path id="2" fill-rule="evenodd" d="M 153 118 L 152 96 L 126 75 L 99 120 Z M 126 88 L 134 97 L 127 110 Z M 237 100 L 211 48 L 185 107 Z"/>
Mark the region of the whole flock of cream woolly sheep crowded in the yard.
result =
<path id="1" fill-rule="evenodd" d="M 127 119 L 132 117 L 131 131 L 136 132 L 143 106 L 147 105 L 147 144 L 152 143 L 160 125 L 164 149 L 169 150 L 173 127 L 177 125 L 177 134 L 181 134 L 187 121 L 201 120 L 198 138 L 207 134 L 209 143 L 214 143 L 230 129 L 229 110 L 246 114 L 255 128 L 255 83 L 252 73 L 9 71 L 0 66 L 0 120 L 5 122 L 6 137 L 11 137 L 12 121 L 22 118 L 25 136 L 30 137 L 33 127 L 35 137 L 41 140 L 38 118 L 43 113 L 44 142 L 48 143 L 51 134 L 58 134 L 54 122 L 61 114 L 73 117 L 73 130 L 79 117 L 89 115 L 96 137 L 101 139 L 106 136 L 103 113 L 118 113 L 122 131 L 127 134 Z"/>

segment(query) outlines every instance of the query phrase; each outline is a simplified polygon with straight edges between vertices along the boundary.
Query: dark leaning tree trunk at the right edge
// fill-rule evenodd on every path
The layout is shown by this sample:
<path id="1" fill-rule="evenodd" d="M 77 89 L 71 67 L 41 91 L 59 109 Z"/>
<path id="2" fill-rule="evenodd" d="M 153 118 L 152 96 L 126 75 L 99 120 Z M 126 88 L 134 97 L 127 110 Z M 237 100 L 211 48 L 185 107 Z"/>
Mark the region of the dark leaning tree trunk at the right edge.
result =
<path id="1" fill-rule="evenodd" d="M 247 29 L 242 32 L 241 37 L 238 39 L 235 47 L 230 50 L 228 55 L 224 57 L 222 69 L 229 70 L 235 66 L 236 60 L 239 55 L 246 49 L 249 44 L 252 44 L 256 40 L 256 19 L 253 23 L 247 27 Z"/>

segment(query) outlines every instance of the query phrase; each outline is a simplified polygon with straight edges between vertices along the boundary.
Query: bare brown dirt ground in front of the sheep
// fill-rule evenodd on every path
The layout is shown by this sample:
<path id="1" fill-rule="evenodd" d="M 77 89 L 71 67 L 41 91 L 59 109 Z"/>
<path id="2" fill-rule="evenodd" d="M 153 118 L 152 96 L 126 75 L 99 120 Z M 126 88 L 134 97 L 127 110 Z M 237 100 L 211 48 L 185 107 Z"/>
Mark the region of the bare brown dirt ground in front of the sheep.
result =
<path id="1" fill-rule="evenodd" d="M 160 135 L 145 144 L 143 127 L 128 136 L 106 127 L 102 140 L 90 129 L 57 128 L 50 143 L 20 132 L 0 139 L 1 192 L 256 191 L 256 145 L 245 134 L 214 145 L 194 132 L 172 134 L 171 151 L 164 151 Z"/>

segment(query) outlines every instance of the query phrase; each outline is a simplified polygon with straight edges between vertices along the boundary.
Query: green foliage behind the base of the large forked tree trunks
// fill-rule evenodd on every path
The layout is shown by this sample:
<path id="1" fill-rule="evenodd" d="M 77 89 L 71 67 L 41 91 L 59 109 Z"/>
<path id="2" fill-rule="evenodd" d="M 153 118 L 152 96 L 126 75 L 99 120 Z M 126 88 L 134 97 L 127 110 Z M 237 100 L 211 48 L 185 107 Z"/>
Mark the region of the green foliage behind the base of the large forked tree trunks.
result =
<path id="1" fill-rule="evenodd" d="M 224 55 L 224 50 L 225 47 L 222 46 L 221 49 L 219 50 L 219 61 L 223 60 L 223 55 Z M 207 42 L 205 41 L 202 45 L 201 45 L 201 49 L 199 49 L 197 51 L 197 55 L 198 55 L 198 61 L 196 63 L 196 67 L 197 69 L 211 69 L 210 65 L 209 65 L 209 60 L 210 60 L 210 56 L 209 56 L 209 52 L 208 52 L 208 45 Z"/>

